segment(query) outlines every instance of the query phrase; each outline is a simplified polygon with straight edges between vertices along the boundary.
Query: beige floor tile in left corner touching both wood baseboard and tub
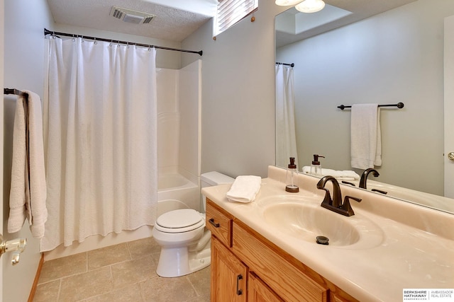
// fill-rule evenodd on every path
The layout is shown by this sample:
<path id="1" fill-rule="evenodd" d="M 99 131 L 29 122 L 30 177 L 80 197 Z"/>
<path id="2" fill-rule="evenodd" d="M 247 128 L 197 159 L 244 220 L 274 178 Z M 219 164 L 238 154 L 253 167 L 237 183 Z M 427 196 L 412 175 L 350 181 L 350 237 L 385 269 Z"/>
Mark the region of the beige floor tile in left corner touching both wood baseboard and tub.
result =
<path id="1" fill-rule="evenodd" d="M 87 253 L 45 261 L 38 284 L 87 272 Z"/>

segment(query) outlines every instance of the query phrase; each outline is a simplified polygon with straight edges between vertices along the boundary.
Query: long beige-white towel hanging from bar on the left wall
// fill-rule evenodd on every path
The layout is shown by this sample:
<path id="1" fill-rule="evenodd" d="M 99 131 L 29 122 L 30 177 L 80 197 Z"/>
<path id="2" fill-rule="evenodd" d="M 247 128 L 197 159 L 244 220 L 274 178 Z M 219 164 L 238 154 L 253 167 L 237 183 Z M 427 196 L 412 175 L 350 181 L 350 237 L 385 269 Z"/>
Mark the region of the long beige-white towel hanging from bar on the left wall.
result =
<path id="1" fill-rule="evenodd" d="M 26 217 L 30 222 L 33 237 L 42 238 L 44 224 L 48 219 L 45 204 L 47 189 L 44 166 L 43 111 L 40 97 L 32 91 L 24 92 L 28 93 L 28 106 L 24 105 L 23 98 L 19 98 L 14 119 L 8 231 L 9 233 L 19 231 Z M 23 110 L 27 107 L 28 110 Z M 26 112 L 28 112 L 28 124 L 26 124 Z M 23 117 L 21 117 L 22 114 Z M 28 128 L 28 141 L 26 141 L 26 127 Z M 18 130 L 16 131 L 16 129 Z M 23 187 L 25 190 L 22 190 Z"/>

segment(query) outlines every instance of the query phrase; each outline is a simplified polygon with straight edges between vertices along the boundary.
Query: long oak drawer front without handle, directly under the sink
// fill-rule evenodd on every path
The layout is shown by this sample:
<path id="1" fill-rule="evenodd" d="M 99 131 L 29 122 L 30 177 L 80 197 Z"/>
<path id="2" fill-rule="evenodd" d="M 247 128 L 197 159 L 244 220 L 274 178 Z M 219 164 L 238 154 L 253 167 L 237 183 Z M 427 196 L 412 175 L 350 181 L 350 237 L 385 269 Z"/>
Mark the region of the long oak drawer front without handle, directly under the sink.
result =
<path id="1" fill-rule="evenodd" d="M 328 289 L 294 267 L 284 252 L 270 248 L 265 238 L 253 236 L 240 221 L 233 223 L 233 252 L 284 301 L 327 301 Z"/>

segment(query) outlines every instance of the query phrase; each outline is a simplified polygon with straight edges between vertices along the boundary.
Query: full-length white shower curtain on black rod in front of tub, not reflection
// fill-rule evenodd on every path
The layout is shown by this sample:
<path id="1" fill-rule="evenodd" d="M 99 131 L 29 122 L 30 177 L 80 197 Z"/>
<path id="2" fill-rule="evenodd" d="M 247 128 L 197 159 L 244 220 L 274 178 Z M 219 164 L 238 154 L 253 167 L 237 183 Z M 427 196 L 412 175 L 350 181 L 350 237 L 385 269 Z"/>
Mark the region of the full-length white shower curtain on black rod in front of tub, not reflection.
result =
<path id="1" fill-rule="evenodd" d="M 155 49 L 50 38 L 41 251 L 155 223 Z"/>

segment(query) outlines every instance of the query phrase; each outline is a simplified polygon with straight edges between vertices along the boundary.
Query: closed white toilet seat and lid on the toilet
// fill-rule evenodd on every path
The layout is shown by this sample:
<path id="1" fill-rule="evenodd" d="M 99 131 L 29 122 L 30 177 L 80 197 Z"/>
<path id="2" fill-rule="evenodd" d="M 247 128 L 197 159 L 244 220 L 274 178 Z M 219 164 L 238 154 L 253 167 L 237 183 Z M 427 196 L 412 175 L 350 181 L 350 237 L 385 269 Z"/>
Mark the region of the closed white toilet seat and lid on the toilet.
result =
<path id="1" fill-rule="evenodd" d="M 205 225 L 203 216 L 194 209 L 178 209 L 157 217 L 155 228 L 165 233 L 184 233 Z"/>

